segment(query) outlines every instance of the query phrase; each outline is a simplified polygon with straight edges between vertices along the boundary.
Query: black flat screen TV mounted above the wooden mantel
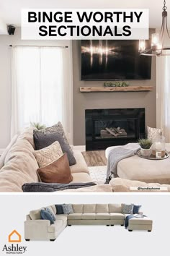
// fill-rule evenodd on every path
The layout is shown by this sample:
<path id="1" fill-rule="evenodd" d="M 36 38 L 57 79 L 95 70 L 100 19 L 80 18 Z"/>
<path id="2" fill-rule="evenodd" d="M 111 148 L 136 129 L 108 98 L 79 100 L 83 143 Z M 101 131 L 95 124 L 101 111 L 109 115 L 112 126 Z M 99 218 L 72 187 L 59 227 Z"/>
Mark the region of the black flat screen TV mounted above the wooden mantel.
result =
<path id="1" fill-rule="evenodd" d="M 149 79 L 151 56 L 138 53 L 138 40 L 81 40 L 81 80 Z"/>

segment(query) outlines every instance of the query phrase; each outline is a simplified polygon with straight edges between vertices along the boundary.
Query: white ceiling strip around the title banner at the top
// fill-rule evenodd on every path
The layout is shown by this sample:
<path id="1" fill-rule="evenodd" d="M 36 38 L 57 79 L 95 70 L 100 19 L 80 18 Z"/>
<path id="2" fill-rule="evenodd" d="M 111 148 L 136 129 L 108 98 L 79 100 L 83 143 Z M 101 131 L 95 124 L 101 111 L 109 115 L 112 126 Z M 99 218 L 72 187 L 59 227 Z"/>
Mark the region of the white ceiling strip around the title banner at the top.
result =
<path id="1" fill-rule="evenodd" d="M 166 1 L 170 26 L 170 0 Z M 0 0 L 0 19 L 6 24 L 20 25 L 24 8 L 146 8 L 150 11 L 150 27 L 161 26 L 163 0 Z"/>

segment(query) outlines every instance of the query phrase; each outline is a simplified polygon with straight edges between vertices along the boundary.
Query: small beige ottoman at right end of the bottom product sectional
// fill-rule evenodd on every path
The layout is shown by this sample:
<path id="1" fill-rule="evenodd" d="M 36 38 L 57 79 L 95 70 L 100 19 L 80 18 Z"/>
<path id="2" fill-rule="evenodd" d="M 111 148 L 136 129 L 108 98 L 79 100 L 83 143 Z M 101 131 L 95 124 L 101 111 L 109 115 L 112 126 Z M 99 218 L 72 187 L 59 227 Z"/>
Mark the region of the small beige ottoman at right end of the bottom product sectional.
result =
<path id="1" fill-rule="evenodd" d="M 148 232 L 152 231 L 152 223 L 153 221 L 148 217 L 143 218 L 130 218 L 128 231 L 133 230 L 148 230 Z"/>

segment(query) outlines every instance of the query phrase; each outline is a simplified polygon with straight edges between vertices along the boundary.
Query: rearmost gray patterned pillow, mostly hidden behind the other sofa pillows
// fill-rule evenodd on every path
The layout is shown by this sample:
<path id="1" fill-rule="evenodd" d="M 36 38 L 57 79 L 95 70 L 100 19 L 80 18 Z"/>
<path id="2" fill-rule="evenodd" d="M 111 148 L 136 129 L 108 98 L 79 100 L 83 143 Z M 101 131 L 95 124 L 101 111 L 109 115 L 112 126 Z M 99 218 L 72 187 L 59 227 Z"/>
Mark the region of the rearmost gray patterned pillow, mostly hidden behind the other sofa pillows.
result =
<path id="1" fill-rule="evenodd" d="M 60 121 L 58 121 L 58 124 L 55 124 L 53 125 L 53 127 L 47 127 L 45 129 L 40 129 L 40 132 L 41 133 L 46 133 L 46 134 L 49 134 L 49 133 L 53 133 L 53 132 L 58 132 L 61 134 L 61 136 L 63 137 L 65 143 L 68 145 L 68 147 L 70 148 L 71 150 L 71 153 L 73 153 L 73 150 L 71 149 L 69 143 L 68 143 L 68 140 L 66 138 L 66 135 L 65 135 L 65 132 L 63 130 L 63 125 L 61 124 Z"/>

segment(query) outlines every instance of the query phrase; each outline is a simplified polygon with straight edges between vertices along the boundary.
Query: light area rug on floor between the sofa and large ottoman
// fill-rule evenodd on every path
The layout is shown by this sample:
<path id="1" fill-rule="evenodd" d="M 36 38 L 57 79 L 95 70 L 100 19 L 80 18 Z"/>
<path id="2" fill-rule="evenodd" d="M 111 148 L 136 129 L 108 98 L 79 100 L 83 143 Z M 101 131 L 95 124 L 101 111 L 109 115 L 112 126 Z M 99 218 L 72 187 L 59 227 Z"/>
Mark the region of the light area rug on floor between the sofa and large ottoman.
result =
<path id="1" fill-rule="evenodd" d="M 107 176 L 107 166 L 90 166 L 89 172 L 93 182 L 104 184 Z"/>

